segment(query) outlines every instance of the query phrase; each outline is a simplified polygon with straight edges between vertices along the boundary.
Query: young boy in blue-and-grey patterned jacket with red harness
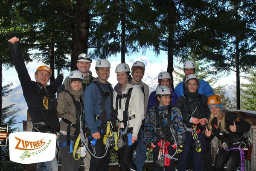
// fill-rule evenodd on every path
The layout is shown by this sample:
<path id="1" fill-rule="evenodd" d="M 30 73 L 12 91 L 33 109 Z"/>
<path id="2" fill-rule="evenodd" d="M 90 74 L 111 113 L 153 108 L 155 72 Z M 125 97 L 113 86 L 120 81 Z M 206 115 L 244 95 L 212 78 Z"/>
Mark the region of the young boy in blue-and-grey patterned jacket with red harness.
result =
<path id="1" fill-rule="evenodd" d="M 156 90 L 157 105 L 145 118 L 144 142 L 153 148 L 153 171 L 175 171 L 175 154 L 183 151 L 185 128 L 178 108 L 172 108 L 170 88 L 160 85 Z"/>

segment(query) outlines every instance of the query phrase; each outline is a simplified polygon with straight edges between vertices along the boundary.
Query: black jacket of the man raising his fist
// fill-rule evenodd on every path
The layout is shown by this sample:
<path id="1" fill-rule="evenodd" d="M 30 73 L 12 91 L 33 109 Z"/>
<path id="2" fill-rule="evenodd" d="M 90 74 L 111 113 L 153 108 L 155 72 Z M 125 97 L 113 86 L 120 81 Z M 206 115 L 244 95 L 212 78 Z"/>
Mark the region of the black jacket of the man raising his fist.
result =
<path id="1" fill-rule="evenodd" d="M 55 106 L 57 103 L 53 104 L 55 108 L 53 107 L 52 110 L 47 110 L 44 107 L 43 100 L 48 96 L 55 97 L 57 88 L 62 83 L 63 76 L 59 74 L 58 77 L 50 83 L 50 85 L 44 88 L 41 83 L 32 81 L 29 77 L 29 73 L 21 54 L 19 41 L 15 44 L 8 42 L 8 44 L 11 51 L 12 61 L 18 73 L 20 85 L 23 90 L 23 96 L 29 108 L 32 123 L 45 123 L 47 128 L 41 129 L 41 132 L 50 131 L 51 129 L 59 131 L 60 125 Z"/>

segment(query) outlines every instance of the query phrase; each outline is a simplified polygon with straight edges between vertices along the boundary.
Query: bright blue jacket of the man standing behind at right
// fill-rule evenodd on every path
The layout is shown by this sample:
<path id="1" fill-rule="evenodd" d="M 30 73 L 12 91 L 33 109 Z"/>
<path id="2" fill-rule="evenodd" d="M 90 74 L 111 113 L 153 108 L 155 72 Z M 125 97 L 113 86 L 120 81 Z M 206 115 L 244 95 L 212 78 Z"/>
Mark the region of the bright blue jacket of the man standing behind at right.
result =
<path id="1" fill-rule="evenodd" d="M 185 85 L 185 78 L 183 79 L 182 82 L 178 83 L 178 85 L 174 89 L 174 91 L 175 91 L 175 93 L 177 93 L 178 97 L 180 97 L 184 94 L 183 84 Z M 207 97 L 214 94 L 211 85 L 209 85 L 209 83 L 207 83 L 205 80 L 199 80 L 198 93 L 204 94 Z"/>

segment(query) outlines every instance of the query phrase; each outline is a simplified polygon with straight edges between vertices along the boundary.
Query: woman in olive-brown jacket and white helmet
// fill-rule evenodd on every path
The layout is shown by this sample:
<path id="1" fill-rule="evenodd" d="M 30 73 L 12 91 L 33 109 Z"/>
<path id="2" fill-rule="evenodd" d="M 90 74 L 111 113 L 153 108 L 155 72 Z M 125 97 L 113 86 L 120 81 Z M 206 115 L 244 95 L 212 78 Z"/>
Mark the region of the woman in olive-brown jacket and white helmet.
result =
<path id="1" fill-rule="evenodd" d="M 83 75 L 81 71 L 71 71 L 68 77 L 68 81 L 64 82 L 61 87 L 58 88 L 58 105 L 57 111 L 61 117 L 61 137 L 60 137 L 60 149 L 61 149 L 61 161 L 62 171 L 78 171 L 81 163 L 81 157 L 77 160 L 74 159 L 73 154 L 70 153 L 70 148 L 73 148 L 77 137 L 79 136 L 80 115 L 83 114 Z M 76 128 L 71 125 L 76 124 Z"/>

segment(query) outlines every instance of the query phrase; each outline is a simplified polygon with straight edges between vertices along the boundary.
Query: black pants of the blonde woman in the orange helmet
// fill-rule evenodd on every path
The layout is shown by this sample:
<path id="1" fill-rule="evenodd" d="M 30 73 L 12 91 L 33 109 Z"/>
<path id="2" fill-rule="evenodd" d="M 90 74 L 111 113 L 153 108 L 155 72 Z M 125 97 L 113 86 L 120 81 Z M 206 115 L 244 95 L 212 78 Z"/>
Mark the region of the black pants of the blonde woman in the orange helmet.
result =
<path id="1" fill-rule="evenodd" d="M 231 150 L 225 151 L 224 148 L 219 148 L 218 154 L 215 159 L 214 169 L 215 171 L 226 171 L 224 165 L 227 163 L 228 171 L 236 171 L 236 168 L 240 164 L 240 151 Z"/>

